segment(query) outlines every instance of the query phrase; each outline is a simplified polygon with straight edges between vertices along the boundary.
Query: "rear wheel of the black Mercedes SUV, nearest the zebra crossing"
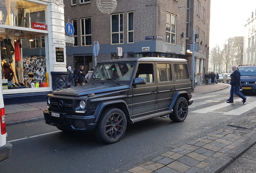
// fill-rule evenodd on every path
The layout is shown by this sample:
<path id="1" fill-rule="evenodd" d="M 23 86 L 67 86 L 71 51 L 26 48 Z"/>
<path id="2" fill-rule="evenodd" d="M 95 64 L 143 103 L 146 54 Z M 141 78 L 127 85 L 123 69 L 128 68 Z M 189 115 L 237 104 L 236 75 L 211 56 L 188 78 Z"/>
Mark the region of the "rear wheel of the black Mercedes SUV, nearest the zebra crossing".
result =
<path id="1" fill-rule="evenodd" d="M 169 116 L 172 121 L 182 122 L 188 115 L 188 101 L 184 97 L 178 97 L 173 113 Z"/>

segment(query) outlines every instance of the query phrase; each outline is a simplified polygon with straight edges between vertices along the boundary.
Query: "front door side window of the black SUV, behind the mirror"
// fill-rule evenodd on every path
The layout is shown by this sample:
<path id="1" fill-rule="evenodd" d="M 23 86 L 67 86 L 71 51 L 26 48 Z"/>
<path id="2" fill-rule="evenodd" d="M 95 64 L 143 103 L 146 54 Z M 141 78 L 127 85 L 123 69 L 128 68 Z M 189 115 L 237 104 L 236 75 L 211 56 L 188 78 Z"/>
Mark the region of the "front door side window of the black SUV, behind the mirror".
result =
<path id="1" fill-rule="evenodd" d="M 135 78 L 145 78 L 146 82 L 153 82 L 154 68 L 153 64 L 139 64 Z"/>

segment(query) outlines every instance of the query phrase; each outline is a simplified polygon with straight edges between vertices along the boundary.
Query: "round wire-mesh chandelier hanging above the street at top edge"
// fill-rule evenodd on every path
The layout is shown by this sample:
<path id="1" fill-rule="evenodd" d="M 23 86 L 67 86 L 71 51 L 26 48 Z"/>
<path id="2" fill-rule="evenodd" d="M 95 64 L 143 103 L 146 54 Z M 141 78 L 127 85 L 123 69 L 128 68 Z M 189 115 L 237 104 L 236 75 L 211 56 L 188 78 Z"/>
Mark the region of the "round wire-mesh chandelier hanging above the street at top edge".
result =
<path id="1" fill-rule="evenodd" d="M 117 0 L 97 0 L 98 9 L 104 14 L 110 14 L 114 12 L 117 6 Z"/>

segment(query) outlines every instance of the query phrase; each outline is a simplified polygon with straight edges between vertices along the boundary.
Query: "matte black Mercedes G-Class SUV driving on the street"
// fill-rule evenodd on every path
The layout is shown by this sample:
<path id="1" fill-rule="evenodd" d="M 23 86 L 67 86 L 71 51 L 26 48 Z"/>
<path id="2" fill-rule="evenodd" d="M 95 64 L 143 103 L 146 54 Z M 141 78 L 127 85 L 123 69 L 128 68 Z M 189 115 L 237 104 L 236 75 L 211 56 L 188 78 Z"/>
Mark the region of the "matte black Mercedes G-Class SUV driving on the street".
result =
<path id="1" fill-rule="evenodd" d="M 127 122 L 184 121 L 191 98 L 187 60 L 127 58 L 99 62 L 88 84 L 47 95 L 43 114 L 61 131 L 94 131 L 100 141 L 116 143 Z"/>

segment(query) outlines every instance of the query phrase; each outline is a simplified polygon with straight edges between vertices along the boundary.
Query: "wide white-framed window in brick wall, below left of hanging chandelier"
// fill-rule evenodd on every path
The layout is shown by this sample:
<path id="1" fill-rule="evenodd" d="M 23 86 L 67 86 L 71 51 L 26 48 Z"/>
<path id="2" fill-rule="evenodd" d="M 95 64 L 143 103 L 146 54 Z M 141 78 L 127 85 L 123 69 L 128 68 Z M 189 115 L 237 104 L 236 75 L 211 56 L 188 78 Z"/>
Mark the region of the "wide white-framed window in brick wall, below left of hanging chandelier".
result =
<path id="1" fill-rule="evenodd" d="M 81 45 L 91 46 L 91 18 L 81 19 Z"/>

